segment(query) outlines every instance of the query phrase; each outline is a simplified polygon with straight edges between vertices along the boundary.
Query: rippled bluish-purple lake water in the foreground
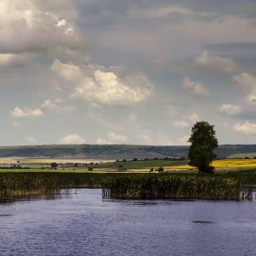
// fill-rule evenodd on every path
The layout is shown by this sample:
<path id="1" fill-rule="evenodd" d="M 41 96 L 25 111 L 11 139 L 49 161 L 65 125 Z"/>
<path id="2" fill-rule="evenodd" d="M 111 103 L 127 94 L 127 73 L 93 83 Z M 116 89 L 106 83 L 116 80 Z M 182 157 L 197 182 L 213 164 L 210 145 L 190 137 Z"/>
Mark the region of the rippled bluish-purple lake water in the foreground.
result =
<path id="1" fill-rule="evenodd" d="M 0 255 L 256 255 L 256 201 L 57 199 L 0 204 Z"/>

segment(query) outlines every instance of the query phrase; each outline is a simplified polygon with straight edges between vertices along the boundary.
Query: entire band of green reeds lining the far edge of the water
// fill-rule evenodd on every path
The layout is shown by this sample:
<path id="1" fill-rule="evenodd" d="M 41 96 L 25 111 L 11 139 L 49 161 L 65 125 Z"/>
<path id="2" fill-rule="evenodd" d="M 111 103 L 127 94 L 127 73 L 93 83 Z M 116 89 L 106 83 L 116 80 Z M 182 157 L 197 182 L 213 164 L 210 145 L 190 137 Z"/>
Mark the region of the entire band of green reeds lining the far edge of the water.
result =
<path id="1" fill-rule="evenodd" d="M 119 198 L 251 198 L 256 170 L 214 175 L 2 172 L 0 198 L 70 193 L 80 187 L 102 188 Z"/>

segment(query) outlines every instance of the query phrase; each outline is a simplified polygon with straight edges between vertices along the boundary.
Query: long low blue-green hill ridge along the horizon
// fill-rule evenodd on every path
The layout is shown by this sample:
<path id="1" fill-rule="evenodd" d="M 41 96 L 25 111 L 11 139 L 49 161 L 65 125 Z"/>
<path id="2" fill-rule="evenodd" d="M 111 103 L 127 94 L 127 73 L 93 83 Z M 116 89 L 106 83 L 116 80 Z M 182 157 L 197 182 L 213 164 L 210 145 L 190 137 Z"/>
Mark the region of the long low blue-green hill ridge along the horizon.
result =
<path id="1" fill-rule="evenodd" d="M 187 157 L 189 146 L 155 146 L 129 144 L 52 144 L 1 146 L 0 157 L 97 157 L 109 159 L 133 159 L 154 157 Z M 235 154 L 256 153 L 256 144 L 223 144 L 215 154 L 228 157 Z"/>

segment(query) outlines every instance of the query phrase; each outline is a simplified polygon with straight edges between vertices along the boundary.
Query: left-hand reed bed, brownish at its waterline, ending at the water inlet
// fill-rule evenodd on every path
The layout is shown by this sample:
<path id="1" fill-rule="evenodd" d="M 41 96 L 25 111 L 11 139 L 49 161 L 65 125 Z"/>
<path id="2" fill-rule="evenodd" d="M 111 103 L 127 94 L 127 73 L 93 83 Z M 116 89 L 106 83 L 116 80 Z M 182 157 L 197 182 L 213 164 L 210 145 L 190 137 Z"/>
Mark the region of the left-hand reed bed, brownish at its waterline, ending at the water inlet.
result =
<path id="1" fill-rule="evenodd" d="M 0 173 L 0 198 L 69 193 L 72 188 L 101 187 L 112 174 L 91 173 Z"/>

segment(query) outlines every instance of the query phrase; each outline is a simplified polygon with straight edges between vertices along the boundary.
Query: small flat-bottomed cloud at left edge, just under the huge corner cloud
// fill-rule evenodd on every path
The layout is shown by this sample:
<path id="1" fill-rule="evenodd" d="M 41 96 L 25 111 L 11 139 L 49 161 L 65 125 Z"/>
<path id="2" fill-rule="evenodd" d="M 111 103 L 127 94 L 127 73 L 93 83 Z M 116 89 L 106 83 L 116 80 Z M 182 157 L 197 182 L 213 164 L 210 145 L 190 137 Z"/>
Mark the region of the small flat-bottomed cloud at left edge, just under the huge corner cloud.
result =
<path id="1" fill-rule="evenodd" d="M 10 54 L 2 53 L 0 54 L 0 67 L 20 67 L 27 64 L 29 61 L 28 55 L 21 54 Z"/>

